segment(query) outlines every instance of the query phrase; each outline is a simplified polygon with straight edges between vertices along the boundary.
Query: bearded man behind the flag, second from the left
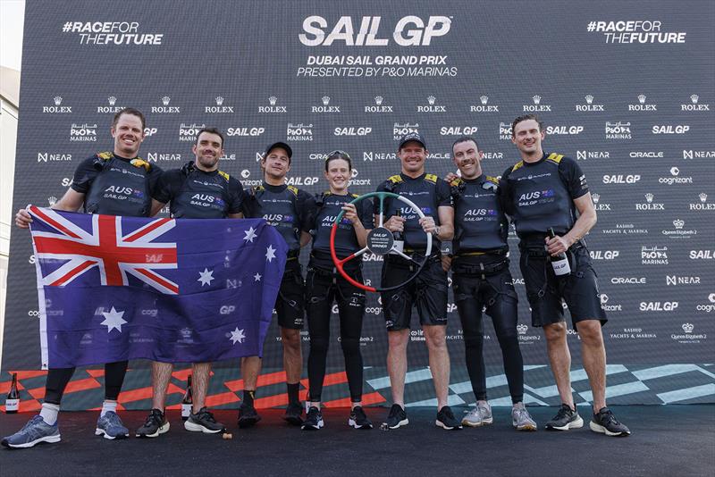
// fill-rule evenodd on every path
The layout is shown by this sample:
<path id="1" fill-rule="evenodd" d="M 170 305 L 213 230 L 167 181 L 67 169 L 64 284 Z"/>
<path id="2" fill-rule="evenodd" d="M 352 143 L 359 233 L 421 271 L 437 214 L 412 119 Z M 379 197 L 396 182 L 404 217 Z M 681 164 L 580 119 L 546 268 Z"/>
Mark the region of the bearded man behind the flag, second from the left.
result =
<path id="1" fill-rule="evenodd" d="M 166 203 L 176 219 L 240 219 L 243 188 L 229 174 L 218 170 L 218 161 L 223 155 L 223 134 L 215 128 L 198 131 L 192 147 L 195 160 L 181 169 L 165 171 L 159 178 L 154 192 L 153 213 L 159 212 Z M 184 422 L 188 431 L 213 434 L 223 431 L 214 414 L 205 406 L 210 363 L 194 363 L 193 409 Z M 137 430 L 137 437 L 154 438 L 169 431 L 164 416 L 166 389 L 172 377 L 173 364 L 152 362 L 152 409 L 147 421 Z"/>

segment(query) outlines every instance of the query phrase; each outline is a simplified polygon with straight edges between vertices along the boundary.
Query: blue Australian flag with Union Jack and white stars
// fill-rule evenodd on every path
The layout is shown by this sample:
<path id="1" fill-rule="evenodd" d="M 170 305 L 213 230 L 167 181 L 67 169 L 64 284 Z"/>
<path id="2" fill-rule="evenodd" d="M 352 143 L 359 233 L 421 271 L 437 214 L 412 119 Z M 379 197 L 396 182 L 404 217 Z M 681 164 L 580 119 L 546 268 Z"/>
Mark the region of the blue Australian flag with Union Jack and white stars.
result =
<path id="1" fill-rule="evenodd" d="M 29 213 L 43 369 L 263 354 L 287 250 L 263 219 Z"/>

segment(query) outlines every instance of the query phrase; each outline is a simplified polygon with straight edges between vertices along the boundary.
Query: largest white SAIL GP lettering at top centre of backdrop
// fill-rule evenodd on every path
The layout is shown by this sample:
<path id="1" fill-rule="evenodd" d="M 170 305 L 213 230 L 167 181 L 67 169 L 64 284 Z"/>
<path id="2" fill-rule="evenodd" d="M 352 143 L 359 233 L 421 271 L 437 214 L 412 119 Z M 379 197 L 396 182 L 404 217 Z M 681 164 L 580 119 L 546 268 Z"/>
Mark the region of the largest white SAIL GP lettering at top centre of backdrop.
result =
<path id="1" fill-rule="evenodd" d="M 379 16 L 364 16 L 355 22 L 352 17 L 341 16 L 331 28 L 324 17 L 311 15 L 303 21 L 303 33 L 298 38 L 305 46 L 332 46 L 341 42 L 344 46 L 387 46 L 390 38 L 384 37 L 381 21 Z M 429 46 L 433 38 L 450 32 L 451 22 L 451 17 L 445 16 L 431 16 L 425 22 L 408 15 L 395 24 L 391 36 L 399 46 Z"/>

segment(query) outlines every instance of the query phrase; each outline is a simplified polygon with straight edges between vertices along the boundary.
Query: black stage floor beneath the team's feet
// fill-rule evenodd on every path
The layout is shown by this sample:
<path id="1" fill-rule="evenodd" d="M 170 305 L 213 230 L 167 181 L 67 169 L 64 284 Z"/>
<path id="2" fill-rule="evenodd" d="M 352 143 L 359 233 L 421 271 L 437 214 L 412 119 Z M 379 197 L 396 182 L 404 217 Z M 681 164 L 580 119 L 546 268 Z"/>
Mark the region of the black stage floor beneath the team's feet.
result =
<path id="1" fill-rule="evenodd" d="M 464 409 L 455 408 L 456 414 Z M 218 411 L 233 439 L 185 431 L 170 412 L 172 430 L 156 439 L 107 440 L 94 435 L 97 413 L 60 416 L 62 442 L 0 450 L 1 475 L 715 475 L 715 406 L 614 406 L 633 431 L 607 438 L 588 429 L 517 432 L 509 409 L 494 408 L 491 426 L 443 431 L 433 409 L 410 408 L 410 423 L 394 431 L 356 431 L 347 410 L 324 411 L 321 431 L 300 431 L 263 411 L 263 421 L 238 430 L 236 413 Z M 556 409 L 530 407 L 543 424 Z M 367 409 L 379 424 L 383 408 Z M 123 412 L 134 431 L 146 413 Z M 31 414 L 0 415 L 0 433 L 21 428 Z"/>

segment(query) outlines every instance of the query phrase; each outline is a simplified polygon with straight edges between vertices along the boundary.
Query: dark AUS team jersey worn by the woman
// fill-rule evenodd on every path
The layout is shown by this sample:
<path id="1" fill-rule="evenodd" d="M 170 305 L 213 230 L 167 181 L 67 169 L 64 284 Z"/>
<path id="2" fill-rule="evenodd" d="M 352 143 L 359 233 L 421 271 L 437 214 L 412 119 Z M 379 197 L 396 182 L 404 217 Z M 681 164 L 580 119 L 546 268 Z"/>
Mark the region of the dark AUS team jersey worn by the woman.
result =
<path id="1" fill-rule="evenodd" d="M 338 214 L 342 212 L 342 206 L 355 200 L 357 194 L 346 194 L 339 196 L 326 191 L 315 196 L 315 222 L 312 230 L 313 233 L 313 255 L 311 264 L 323 268 L 332 268 L 332 259 L 330 255 L 330 235 L 332 224 Z M 369 200 L 361 200 L 357 203 L 357 217 L 362 222 L 366 230 L 373 228 L 373 205 Z M 338 230 L 335 232 L 335 254 L 339 258 L 357 252 L 360 244 L 357 242 L 355 229 L 346 218 L 342 218 L 338 223 Z M 355 262 L 359 264 L 359 259 Z"/>

